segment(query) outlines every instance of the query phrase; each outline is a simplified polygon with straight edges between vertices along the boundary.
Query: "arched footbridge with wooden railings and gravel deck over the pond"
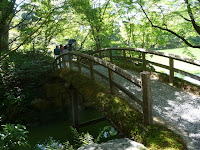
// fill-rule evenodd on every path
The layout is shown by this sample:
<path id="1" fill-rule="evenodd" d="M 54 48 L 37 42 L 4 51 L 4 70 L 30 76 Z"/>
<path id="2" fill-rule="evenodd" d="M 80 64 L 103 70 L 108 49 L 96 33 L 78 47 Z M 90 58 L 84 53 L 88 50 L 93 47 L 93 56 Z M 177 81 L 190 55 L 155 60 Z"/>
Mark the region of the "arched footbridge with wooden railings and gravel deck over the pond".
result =
<path id="1" fill-rule="evenodd" d="M 136 55 L 140 57 L 135 57 Z M 168 60 L 169 65 L 149 61 L 148 55 L 163 57 Z M 122 69 L 112 63 L 115 59 L 120 59 L 129 65 L 141 62 L 143 72 Z M 152 116 L 163 118 L 170 125 L 184 130 L 191 139 L 189 147 L 198 149 L 200 148 L 200 97 L 151 78 L 150 73 L 146 71 L 149 65 L 168 69 L 169 81 L 172 84 L 175 72 L 193 78 L 197 82 L 200 81 L 199 76 L 175 68 L 176 61 L 200 69 L 198 60 L 133 48 L 108 48 L 89 54 L 67 52 L 55 59 L 54 69 L 75 70 L 89 76 L 91 80 L 109 86 L 112 94 L 119 92 L 143 113 L 145 124 L 152 124 Z"/>

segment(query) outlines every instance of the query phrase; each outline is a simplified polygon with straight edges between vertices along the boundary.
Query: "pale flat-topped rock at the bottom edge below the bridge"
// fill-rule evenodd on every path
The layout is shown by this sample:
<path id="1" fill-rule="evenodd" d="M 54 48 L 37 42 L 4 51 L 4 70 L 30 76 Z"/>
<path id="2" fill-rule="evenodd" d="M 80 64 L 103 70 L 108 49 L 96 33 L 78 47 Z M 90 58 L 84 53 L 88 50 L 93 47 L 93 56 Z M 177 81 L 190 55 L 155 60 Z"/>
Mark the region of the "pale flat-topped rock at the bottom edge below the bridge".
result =
<path id="1" fill-rule="evenodd" d="M 114 139 L 106 143 L 82 146 L 78 150 L 147 150 L 147 148 L 128 138 Z"/>

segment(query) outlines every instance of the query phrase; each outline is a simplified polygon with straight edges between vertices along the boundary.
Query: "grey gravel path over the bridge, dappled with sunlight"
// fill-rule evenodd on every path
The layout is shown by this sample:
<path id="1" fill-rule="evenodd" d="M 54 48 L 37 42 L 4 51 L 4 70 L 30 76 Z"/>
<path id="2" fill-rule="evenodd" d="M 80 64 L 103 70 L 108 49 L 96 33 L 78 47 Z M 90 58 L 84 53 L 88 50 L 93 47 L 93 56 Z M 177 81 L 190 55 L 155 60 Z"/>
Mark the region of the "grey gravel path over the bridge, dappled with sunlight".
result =
<path id="1" fill-rule="evenodd" d="M 74 69 L 76 70 L 77 68 L 75 67 Z M 95 65 L 94 69 L 108 76 L 106 68 Z M 82 71 L 86 75 L 90 75 L 88 70 L 82 69 Z M 140 78 L 139 73 L 129 72 L 136 78 Z M 99 76 L 95 76 L 95 79 L 109 85 L 107 81 Z M 141 90 L 129 81 L 117 74 L 114 74 L 114 81 L 141 99 Z M 183 92 L 156 79 L 151 79 L 151 85 L 153 115 L 163 118 L 167 122 L 171 122 L 178 128 L 183 129 L 191 139 L 191 142 L 188 143 L 188 148 L 190 150 L 200 150 L 200 97 Z"/>

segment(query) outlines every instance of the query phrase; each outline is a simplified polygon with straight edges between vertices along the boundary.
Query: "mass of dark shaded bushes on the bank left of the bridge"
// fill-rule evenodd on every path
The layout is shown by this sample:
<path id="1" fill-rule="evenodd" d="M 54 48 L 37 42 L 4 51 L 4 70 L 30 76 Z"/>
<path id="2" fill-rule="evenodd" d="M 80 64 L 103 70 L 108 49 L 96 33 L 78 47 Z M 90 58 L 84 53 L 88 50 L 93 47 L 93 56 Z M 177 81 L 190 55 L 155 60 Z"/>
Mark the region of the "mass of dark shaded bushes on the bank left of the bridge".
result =
<path id="1" fill-rule="evenodd" d="M 38 87 L 46 81 L 46 74 L 52 70 L 52 61 L 53 58 L 44 52 L 26 51 L 14 52 L 1 62 L 0 87 L 4 92 L 0 108 L 9 121 L 23 120 L 19 114 L 30 111 L 29 103 L 37 97 Z"/>

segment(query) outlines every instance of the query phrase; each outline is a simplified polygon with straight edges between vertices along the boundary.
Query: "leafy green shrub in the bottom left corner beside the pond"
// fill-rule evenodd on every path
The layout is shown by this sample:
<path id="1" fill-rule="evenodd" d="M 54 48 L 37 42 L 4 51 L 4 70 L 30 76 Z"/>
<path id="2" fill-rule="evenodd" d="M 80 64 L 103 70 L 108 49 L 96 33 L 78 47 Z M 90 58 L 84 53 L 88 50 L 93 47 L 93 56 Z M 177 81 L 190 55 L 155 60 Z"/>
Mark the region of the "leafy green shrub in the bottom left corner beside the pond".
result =
<path id="1" fill-rule="evenodd" d="M 26 127 L 20 124 L 2 125 L 3 131 L 0 132 L 0 149 L 3 150 L 27 150 L 30 146 L 27 143 Z"/>

